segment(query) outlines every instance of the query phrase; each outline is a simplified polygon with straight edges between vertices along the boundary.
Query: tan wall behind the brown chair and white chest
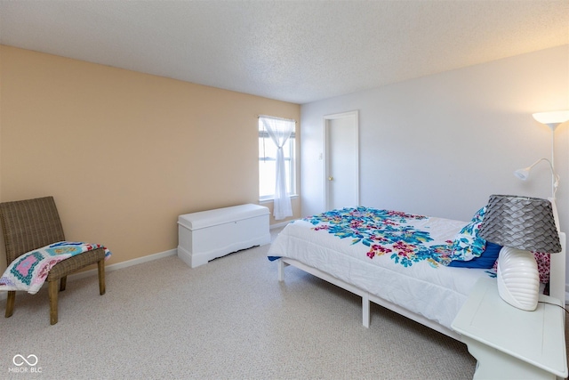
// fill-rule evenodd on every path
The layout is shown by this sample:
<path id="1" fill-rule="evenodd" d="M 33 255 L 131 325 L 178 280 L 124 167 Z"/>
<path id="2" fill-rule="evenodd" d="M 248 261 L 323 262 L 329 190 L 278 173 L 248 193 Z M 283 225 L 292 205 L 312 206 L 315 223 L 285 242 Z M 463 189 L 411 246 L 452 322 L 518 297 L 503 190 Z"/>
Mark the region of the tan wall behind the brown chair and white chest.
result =
<path id="1" fill-rule="evenodd" d="M 108 246 L 108 263 L 164 252 L 179 214 L 259 203 L 257 115 L 300 112 L 2 45 L 0 200 L 53 195 L 66 238 Z"/>

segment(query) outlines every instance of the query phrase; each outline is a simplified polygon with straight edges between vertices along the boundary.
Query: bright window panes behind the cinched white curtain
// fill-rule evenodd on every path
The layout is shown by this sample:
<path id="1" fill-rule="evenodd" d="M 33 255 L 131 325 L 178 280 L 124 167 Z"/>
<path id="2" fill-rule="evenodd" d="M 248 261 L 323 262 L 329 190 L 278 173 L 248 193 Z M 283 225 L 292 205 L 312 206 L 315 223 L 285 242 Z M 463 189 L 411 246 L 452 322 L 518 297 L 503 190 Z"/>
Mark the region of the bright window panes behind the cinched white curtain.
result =
<path id="1" fill-rule="evenodd" d="M 296 141 L 296 122 L 290 119 L 277 117 L 259 117 L 259 197 L 260 200 L 275 198 L 276 184 L 276 143 L 270 137 L 267 127 L 263 122 L 269 121 L 273 129 L 286 131 L 293 123 L 293 133 L 283 145 L 284 154 L 284 173 L 286 176 L 286 190 L 289 195 L 296 193 L 295 181 L 295 141 Z"/>

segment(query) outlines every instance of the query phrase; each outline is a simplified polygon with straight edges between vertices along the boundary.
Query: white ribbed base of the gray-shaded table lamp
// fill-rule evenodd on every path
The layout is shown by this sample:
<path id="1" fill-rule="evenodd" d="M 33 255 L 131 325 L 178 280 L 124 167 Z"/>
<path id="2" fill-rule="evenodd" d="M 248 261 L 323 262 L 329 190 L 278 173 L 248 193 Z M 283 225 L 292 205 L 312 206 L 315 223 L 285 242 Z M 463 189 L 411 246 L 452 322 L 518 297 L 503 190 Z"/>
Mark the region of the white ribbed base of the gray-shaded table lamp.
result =
<path id="1" fill-rule="evenodd" d="M 533 254 L 503 247 L 498 257 L 498 293 L 518 309 L 534 311 L 540 293 L 540 274 Z"/>

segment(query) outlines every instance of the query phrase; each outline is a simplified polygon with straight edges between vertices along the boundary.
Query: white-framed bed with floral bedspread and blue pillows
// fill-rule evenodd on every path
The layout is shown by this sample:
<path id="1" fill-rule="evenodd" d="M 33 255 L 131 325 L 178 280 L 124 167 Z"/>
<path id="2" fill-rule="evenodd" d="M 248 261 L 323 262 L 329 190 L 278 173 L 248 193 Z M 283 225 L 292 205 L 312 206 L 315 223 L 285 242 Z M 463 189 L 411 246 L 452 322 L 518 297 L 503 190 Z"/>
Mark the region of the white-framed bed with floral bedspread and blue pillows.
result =
<path id="1" fill-rule="evenodd" d="M 500 246 L 477 237 L 485 207 L 470 222 L 370 207 L 332 210 L 289 223 L 268 251 L 278 279 L 293 265 L 362 297 L 362 321 L 370 302 L 455 339 L 451 324 L 481 277 L 495 277 Z M 565 300 L 563 251 L 537 254 L 542 282 Z M 464 267 L 467 266 L 467 267 Z M 471 268 L 474 267 L 474 268 Z"/>

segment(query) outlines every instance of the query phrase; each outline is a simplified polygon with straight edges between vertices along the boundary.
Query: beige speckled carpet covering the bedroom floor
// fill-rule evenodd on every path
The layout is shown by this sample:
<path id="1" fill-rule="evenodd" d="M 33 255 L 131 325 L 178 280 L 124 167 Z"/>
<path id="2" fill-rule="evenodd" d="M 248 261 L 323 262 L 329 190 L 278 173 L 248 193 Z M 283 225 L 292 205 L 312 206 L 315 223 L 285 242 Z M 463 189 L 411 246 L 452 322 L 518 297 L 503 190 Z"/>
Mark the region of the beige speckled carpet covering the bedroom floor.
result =
<path id="1" fill-rule="evenodd" d="M 374 304 L 365 328 L 359 297 L 291 267 L 279 283 L 267 250 L 110 271 L 102 296 L 96 277 L 68 281 L 54 326 L 45 289 L 19 292 L 0 378 L 472 378 L 464 344 Z M 41 373 L 14 373 L 16 355 Z"/>

